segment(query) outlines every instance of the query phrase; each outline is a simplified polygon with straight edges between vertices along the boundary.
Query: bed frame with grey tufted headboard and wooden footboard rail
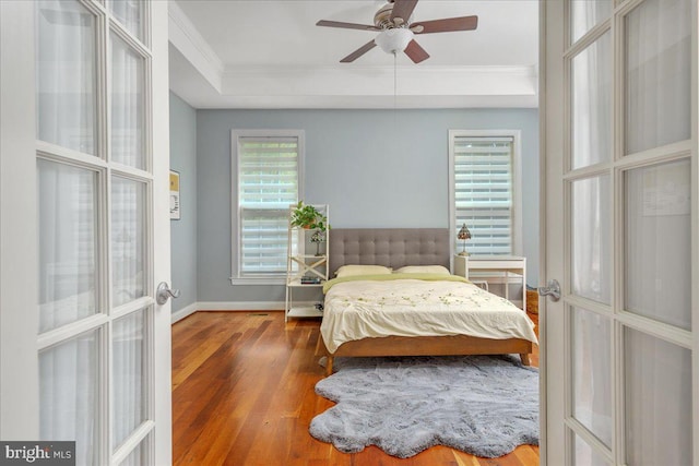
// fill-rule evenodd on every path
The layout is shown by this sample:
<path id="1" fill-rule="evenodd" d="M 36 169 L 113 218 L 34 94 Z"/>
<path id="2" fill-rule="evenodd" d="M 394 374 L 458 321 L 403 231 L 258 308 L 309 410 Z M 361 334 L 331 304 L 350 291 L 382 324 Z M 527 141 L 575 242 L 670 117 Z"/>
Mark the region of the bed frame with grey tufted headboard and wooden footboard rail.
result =
<path id="1" fill-rule="evenodd" d="M 386 265 L 393 268 L 404 265 L 451 267 L 447 228 L 333 229 L 331 235 L 331 273 L 345 264 Z M 522 365 L 529 366 L 533 344 L 521 338 L 493 339 L 467 335 L 386 336 L 345 342 L 331 354 L 321 335 L 318 346 L 327 356 L 325 373 L 330 375 L 335 357 L 519 354 Z"/>

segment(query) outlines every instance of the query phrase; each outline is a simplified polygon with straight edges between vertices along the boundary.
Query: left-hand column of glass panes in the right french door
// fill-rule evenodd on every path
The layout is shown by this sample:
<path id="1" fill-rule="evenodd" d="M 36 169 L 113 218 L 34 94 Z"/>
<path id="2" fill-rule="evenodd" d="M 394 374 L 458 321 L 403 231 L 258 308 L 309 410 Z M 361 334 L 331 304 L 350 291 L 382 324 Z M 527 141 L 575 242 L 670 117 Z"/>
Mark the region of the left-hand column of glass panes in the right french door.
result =
<path id="1" fill-rule="evenodd" d="M 612 379 L 613 41 L 611 2 L 572 2 L 567 196 L 569 378 L 572 464 L 605 464 L 614 432 Z M 596 27 L 596 28 L 595 28 Z M 595 439 L 590 445 L 584 439 Z M 602 449 L 602 452 L 595 450 Z"/>

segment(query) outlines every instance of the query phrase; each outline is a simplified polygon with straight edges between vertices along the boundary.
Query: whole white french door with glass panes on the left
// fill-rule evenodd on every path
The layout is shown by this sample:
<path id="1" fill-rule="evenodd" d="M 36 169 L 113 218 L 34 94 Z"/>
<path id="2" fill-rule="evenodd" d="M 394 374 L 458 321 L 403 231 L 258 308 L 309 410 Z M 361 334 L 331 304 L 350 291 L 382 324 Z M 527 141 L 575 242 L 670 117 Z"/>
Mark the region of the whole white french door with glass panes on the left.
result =
<path id="1" fill-rule="evenodd" d="M 170 463 L 167 2 L 1 1 L 3 441 Z"/>

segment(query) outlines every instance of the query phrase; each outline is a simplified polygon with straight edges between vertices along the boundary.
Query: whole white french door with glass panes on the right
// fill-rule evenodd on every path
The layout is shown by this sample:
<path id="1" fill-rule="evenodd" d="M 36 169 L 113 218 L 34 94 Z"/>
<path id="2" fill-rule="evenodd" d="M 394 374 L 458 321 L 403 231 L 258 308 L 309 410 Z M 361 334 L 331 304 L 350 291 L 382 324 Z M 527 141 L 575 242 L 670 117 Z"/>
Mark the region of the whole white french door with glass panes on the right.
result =
<path id="1" fill-rule="evenodd" d="M 549 465 L 699 463 L 697 0 L 542 2 Z"/>

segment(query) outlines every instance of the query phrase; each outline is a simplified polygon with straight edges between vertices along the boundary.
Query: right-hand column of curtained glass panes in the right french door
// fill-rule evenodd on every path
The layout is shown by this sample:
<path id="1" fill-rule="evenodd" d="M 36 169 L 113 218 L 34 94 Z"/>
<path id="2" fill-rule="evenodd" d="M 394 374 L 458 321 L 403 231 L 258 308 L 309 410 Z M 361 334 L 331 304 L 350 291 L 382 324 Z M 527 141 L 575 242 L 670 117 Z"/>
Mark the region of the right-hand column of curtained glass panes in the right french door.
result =
<path id="1" fill-rule="evenodd" d="M 624 301 L 617 327 L 624 353 L 623 456 L 628 464 L 692 464 L 696 434 L 687 409 L 696 404 L 690 362 L 688 97 L 690 70 L 697 64 L 696 57 L 692 64 L 690 45 L 696 11 L 692 0 L 645 0 L 625 15 L 620 37 L 625 45 L 625 151 L 618 156 L 624 162 L 644 152 L 661 156 L 640 166 L 623 166 L 619 180 Z"/>

